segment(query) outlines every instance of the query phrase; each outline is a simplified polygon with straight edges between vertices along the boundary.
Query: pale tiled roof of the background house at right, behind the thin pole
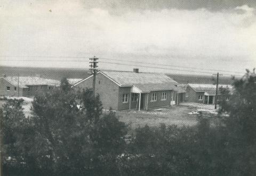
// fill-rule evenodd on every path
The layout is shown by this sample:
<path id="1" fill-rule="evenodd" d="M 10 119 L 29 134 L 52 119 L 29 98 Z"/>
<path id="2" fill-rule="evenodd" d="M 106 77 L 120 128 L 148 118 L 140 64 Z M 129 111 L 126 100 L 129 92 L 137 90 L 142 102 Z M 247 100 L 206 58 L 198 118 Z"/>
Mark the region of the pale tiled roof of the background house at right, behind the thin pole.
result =
<path id="1" fill-rule="evenodd" d="M 209 95 L 215 95 L 215 93 L 216 93 L 216 85 L 195 84 L 195 83 L 189 83 L 188 85 L 197 92 L 205 92 Z M 233 89 L 233 87 L 231 85 L 218 85 L 219 90 L 220 90 L 221 87 L 229 88 L 230 90 Z"/>

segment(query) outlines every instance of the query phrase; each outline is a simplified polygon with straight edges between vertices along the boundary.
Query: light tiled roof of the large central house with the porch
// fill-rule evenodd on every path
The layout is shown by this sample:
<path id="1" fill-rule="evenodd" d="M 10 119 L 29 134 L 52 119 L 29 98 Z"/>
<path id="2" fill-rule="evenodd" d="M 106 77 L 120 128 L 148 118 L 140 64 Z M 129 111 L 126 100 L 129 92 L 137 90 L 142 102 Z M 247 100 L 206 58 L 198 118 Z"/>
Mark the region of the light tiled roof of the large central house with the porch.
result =
<path id="1" fill-rule="evenodd" d="M 174 85 L 178 85 L 176 81 L 166 76 L 164 73 L 101 72 L 121 87 L 135 86 L 142 92 L 172 90 L 175 89 Z"/>

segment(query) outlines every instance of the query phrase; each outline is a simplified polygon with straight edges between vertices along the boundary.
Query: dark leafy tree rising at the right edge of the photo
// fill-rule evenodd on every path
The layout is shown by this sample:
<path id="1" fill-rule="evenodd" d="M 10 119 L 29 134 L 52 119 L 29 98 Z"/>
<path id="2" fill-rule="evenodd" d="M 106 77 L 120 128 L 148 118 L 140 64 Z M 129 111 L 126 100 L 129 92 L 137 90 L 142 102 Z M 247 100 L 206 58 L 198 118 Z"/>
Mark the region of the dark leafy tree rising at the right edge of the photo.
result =
<path id="1" fill-rule="evenodd" d="M 256 75 L 247 70 L 241 79 L 234 79 L 234 94 L 226 108 L 230 112 L 229 123 L 242 132 L 247 144 L 256 144 Z M 234 128 L 234 126 L 233 126 Z"/>

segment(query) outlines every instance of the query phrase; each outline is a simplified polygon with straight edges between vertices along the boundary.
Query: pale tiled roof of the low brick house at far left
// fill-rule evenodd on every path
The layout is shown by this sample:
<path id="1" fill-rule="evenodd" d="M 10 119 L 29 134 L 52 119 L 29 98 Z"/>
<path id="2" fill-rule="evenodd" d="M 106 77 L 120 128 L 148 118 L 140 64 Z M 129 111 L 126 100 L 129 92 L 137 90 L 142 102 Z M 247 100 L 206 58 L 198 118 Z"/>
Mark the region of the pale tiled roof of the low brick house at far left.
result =
<path id="1" fill-rule="evenodd" d="M 18 86 L 18 77 L 4 77 L 7 81 L 11 82 L 13 85 Z M 45 79 L 40 77 L 19 77 L 19 87 L 28 88 L 27 86 L 35 85 L 48 85 L 48 86 L 59 86 L 60 81 L 54 79 Z"/>

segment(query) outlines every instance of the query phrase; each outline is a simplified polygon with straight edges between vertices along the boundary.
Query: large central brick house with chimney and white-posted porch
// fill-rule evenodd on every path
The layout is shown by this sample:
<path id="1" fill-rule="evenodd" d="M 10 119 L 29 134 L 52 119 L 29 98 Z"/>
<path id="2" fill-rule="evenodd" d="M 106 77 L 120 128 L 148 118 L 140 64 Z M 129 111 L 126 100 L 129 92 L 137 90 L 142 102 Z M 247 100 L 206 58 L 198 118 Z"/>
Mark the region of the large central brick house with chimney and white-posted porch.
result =
<path id="1" fill-rule="evenodd" d="M 75 89 L 92 88 L 93 76 L 73 86 Z M 95 93 L 99 94 L 104 109 L 148 110 L 174 104 L 178 83 L 163 73 L 99 71 Z"/>

